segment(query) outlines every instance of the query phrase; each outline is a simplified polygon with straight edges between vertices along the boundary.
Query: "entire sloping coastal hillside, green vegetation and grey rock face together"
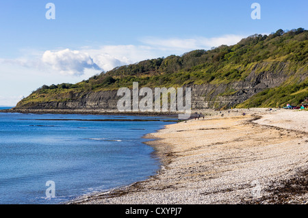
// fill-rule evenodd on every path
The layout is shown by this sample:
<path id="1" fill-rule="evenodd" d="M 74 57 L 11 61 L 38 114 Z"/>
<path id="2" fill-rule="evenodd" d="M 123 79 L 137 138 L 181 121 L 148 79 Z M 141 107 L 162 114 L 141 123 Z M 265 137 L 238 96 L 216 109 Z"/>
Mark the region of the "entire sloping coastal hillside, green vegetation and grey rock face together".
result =
<path id="1" fill-rule="evenodd" d="M 192 108 L 283 107 L 308 96 L 308 31 L 255 34 L 233 46 L 120 66 L 76 84 L 43 85 L 15 109 L 116 109 L 120 87 L 192 87 Z"/>

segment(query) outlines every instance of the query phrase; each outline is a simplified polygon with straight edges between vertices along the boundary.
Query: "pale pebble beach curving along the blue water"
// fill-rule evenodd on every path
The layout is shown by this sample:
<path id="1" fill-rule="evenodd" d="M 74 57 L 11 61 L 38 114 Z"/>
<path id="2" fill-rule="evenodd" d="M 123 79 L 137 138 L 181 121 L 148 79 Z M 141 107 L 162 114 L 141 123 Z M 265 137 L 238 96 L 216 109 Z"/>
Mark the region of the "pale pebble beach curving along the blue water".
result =
<path id="1" fill-rule="evenodd" d="M 307 204 L 308 111 L 222 113 L 146 135 L 156 175 L 68 204 Z"/>

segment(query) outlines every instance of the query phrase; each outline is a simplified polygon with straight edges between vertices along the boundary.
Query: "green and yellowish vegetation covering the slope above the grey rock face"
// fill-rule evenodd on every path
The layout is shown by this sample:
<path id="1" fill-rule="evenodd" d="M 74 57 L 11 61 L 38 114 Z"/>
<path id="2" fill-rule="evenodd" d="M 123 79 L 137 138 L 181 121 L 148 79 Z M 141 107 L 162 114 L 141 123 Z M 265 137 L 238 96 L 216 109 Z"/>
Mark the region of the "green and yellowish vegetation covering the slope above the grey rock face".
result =
<path id="1" fill-rule="evenodd" d="M 281 107 L 298 105 L 307 90 L 308 31 L 302 28 L 269 36 L 255 34 L 232 46 L 221 45 L 209 51 L 196 50 L 181 56 L 170 55 L 120 66 L 76 84 L 43 85 L 18 103 L 66 101 L 82 93 L 131 87 L 180 87 L 183 85 L 229 84 L 244 81 L 251 72 L 283 71 L 290 76 L 281 86 L 255 94 L 238 107 Z M 304 78 L 304 79 L 303 79 Z M 220 96 L 236 94 L 227 90 Z"/>

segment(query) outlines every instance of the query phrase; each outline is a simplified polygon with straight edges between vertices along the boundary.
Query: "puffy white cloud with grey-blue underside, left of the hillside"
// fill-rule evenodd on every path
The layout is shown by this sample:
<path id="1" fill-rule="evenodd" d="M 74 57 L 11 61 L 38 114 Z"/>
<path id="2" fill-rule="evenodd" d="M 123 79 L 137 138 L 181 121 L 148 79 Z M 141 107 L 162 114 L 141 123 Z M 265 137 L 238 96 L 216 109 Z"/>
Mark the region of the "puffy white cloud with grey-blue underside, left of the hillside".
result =
<path id="1" fill-rule="evenodd" d="M 42 55 L 42 63 L 50 66 L 61 74 L 81 75 L 86 68 L 101 70 L 88 53 L 64 49 L 60 51 L 45 51 Z"/>

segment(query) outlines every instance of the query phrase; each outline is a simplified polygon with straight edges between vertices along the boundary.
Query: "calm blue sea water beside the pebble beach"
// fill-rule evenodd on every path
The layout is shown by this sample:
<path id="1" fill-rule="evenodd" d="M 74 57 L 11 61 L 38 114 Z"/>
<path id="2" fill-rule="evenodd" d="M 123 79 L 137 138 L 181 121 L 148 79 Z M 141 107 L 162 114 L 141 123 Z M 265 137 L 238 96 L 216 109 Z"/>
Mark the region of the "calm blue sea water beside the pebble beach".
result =
<path id="1" fill-rule="evenodd" d="M 155 174 L 142 136 L 171 122 L 83 121 L 97 119 L 153 117 L 0 113 L 0 204 L 59 204 Z"/>

